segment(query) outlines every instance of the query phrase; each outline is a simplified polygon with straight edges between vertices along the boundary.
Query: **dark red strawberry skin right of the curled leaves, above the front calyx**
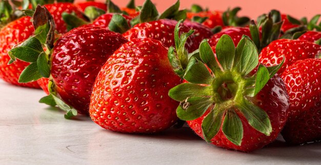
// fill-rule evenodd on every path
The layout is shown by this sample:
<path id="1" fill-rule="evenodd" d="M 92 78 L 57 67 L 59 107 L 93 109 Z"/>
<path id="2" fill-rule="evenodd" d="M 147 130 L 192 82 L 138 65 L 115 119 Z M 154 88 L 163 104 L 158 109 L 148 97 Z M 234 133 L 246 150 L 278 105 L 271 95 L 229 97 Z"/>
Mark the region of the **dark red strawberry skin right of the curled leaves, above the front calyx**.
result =
<path id="1" fill-rule="evenodd" d="M 183 24 L 186 27 L 195 30 L 195 32 L 193 33 L 193 36 L 194 36 L 193 47 L 197 48 L 197 46 L 199 46 L 200 42 L 202 42 L 203 39 L 211 38 L 213 36 L 211 29 L 208 27 L 205 27 L 200 23 L 185 20 Z"/>

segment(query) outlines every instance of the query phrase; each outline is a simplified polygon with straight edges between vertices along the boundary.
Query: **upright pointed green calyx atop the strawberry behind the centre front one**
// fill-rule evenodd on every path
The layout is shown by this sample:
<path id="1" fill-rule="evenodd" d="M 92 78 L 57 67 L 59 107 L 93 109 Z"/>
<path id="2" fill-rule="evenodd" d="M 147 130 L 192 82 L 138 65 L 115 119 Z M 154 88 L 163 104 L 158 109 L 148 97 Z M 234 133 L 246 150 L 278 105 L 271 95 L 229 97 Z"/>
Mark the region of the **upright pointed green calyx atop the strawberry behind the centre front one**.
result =
<path id="1" fill-rule="evenodd" d="M 146 0 L 142 8 L 138 8 L 140 14 L 136 18 L 132 19 L 131 25 L 134 26 L 137 23 L 150 22 L 158 19 L 186 19 L 187 10 L 179 10 L 179 4 L 180 3 L 178 0 L 174 5 L 166 9 L 162 14 L 159 14 L 155 5 L 150 0 Z"/>

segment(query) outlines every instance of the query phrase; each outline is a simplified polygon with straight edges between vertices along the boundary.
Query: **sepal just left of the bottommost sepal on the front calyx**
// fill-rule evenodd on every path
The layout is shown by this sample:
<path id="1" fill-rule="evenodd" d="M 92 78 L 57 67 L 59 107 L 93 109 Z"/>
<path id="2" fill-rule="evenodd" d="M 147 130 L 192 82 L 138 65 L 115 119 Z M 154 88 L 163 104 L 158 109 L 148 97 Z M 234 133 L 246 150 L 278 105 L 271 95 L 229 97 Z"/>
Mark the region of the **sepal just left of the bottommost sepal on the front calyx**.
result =
<path id="1" fill-rule="evenodd" d="M 203 136 L 206 142 L 211 143 L 211 139 L 217 134 L 222 125 L 224 110 L 218 105 L 211 110 L 202 122 Z"/>

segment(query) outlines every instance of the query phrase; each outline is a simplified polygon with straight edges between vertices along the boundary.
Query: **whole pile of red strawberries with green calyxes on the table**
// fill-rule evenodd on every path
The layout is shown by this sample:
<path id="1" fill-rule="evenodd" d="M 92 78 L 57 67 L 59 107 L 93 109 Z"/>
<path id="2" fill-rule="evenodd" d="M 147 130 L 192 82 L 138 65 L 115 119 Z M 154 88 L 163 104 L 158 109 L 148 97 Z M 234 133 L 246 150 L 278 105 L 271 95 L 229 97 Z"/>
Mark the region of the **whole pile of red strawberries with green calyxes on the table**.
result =
<path id="1" fill-rule="evenodd" d="M 125 133 L 186 121 L 207 143 L 243 152 L 279 134 L 321 140 L 320 15 L 50 2 L 0 2 L 0 78 L 42 88 L 39 102 L 66 119 L 81 113 Z"/>

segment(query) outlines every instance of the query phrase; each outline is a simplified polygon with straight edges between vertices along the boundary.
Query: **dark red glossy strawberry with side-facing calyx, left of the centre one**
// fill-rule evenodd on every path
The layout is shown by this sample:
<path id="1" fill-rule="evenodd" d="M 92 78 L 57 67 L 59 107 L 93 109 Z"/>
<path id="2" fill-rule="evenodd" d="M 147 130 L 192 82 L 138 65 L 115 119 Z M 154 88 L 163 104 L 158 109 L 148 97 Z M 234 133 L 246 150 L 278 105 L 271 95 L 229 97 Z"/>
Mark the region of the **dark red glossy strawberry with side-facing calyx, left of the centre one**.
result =
<path id="1" fill-rule="evenodd" d="M 67 117 L 75 114 L 74 109 L 58 99 L 61 98 L 79 113 L 88 114 L 91 89 L 99 70 L 108 57 L 127 40 L 121 34 L 85 25 L 64 34 L 53 44 L 55 38 L 51 36 L 54 28 L 51 26 L 52 17 L 40 6 L 37 7 L 34 17 L 37 15 L 46 15 L 47 19 L 34 23 L 36 35 L 10 51 L 13 59 L 31 62 L 19 77 L 19 81 L 28 82 L 50 77 L 51 95 L 42 99 L 42 102 L 51 103 L 54 99 L 59 107 L 67 109 Z M 38 28 L 45 29 L 40 31 Z M 43 32 L 48 34 L 40 35 Z M 49 50 L 42 52 L 41 43 Z M 30 48 L 37 51 L 30 51 Z"/>

